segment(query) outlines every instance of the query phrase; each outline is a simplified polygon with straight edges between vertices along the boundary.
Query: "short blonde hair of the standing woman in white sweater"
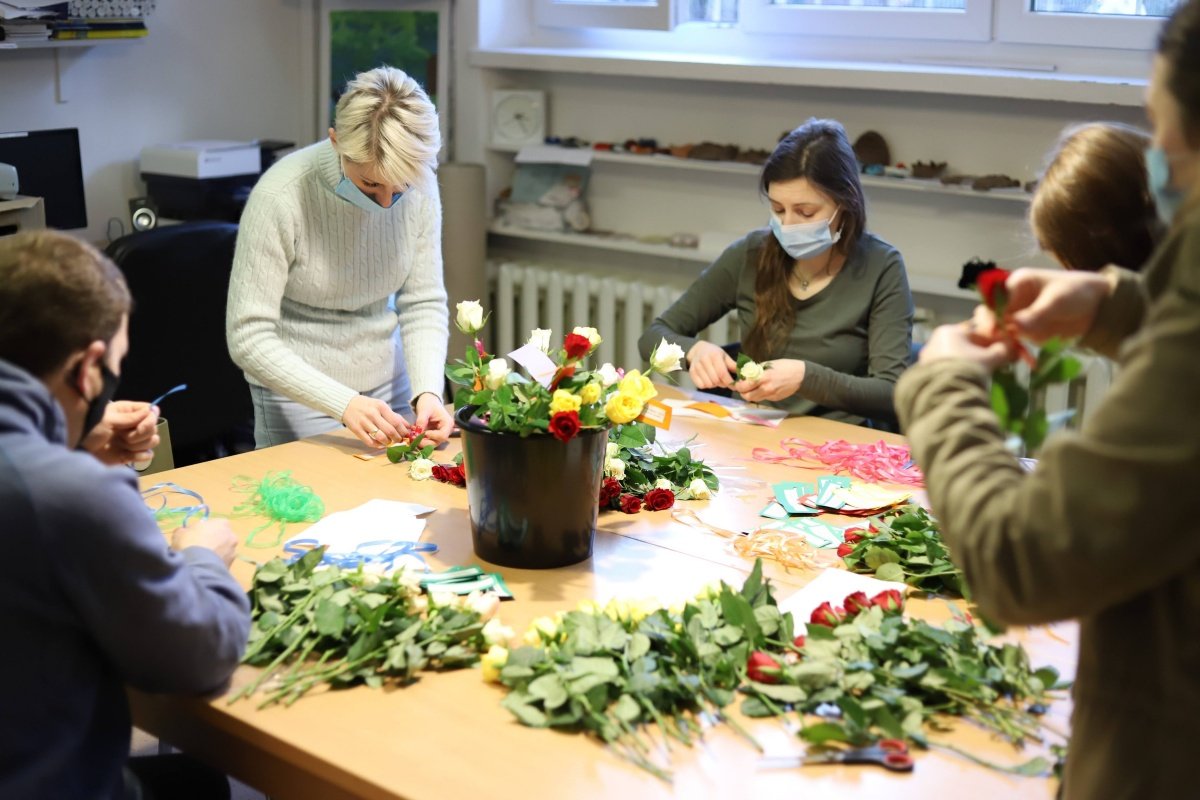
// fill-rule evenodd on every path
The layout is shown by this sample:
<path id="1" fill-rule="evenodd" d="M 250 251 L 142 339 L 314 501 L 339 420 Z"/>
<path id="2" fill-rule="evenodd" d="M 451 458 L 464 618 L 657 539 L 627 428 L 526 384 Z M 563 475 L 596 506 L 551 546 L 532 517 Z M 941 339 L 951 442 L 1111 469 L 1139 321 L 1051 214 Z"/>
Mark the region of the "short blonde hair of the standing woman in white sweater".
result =
<path id="1" fill-rule="evenodd" d="M 426 182 L 437 169 L 438 112 L 421 85 L 396 67 L 360 72 L 334 114 L 338 152 L 401 186 Z"/>

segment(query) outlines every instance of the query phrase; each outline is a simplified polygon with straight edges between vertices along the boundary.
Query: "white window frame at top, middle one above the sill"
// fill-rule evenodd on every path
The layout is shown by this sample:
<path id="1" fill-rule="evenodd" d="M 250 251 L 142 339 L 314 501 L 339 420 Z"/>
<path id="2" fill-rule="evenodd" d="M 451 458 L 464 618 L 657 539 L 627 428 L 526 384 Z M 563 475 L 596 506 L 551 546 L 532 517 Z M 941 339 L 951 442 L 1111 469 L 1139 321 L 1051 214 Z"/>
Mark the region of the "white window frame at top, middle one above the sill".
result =
<path id="1" fill-rule="evenodd" d="M 772 0 L 742 0 L 738 28 L 746 34 L 787 36 L 854 36 L 871 38 L 954 40 L 988 42 L 992 37 L 992 4 L 1012 0 L 966 0 L 962 11 L 934 8 L 863 8 L 776 6 Z M 854 36 L 860 38 L 860 36 Z"/>

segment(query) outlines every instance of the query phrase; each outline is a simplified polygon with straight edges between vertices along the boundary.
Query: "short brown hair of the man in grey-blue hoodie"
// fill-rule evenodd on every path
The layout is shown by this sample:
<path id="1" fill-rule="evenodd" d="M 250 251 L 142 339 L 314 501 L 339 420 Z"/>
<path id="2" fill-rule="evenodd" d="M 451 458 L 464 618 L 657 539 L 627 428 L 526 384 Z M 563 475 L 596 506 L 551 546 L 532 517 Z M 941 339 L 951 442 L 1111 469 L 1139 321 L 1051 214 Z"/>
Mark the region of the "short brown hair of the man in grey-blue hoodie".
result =
<path id="1" fill-rule="evenodd" d="M 120 270 L 88 242 L 56 230 L 0 237 L 0 359 L 37 378 L 110 341 L 131 305 Z"/>

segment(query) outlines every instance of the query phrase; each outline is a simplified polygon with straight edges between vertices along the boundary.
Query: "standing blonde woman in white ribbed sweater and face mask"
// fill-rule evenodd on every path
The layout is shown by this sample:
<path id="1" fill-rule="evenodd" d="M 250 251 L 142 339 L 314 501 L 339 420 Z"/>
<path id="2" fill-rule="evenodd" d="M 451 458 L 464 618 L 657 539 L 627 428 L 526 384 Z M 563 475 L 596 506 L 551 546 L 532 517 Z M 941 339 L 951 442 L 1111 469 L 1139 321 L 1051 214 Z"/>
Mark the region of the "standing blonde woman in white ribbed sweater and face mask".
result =
<path id="1" fill-rule="evenodd" d="M 282 158 L 241 217 L 226 335 L 259 447 L 342 425 L 364 444 L 410 423 L 450 435 L 438 118 L 413 78 L 360 73 L 329 138 Z"/>

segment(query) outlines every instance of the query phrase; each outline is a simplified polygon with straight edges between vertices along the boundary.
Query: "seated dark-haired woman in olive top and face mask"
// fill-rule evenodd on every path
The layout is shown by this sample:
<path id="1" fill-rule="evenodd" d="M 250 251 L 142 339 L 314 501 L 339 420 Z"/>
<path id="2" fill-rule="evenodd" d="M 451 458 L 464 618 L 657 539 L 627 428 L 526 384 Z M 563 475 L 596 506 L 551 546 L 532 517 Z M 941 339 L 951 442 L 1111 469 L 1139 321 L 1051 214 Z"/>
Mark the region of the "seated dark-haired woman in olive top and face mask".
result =
<path id="1" fill-rule="evenodd" d="M 809 120 L 767 160 L 760 190 L 769 229 L 731 245 L 642 335 L 680 345 L 700 389 L 862 423 L 894 419 L 892 390 L 912 344 L 912 294 L 895 247 L 865 233 L 858 161 L 846 131 Z M 737 365 L 696 335 L 737 309 L 742 350 L 769 368 L 737 380 Z"/>

